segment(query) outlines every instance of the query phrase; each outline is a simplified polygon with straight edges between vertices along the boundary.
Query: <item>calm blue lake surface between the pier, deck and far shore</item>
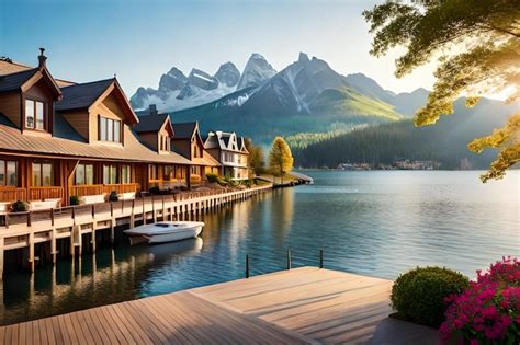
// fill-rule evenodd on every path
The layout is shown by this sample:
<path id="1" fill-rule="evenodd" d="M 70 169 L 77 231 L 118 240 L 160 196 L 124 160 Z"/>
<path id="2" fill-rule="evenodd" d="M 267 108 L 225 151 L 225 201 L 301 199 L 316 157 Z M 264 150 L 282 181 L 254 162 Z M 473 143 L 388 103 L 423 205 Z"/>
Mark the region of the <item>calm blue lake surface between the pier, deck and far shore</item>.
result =
<path id="1" fill-rule="evenodd" d="M 293 266 L 325 265 L 394 279 L 417 265 L 470 277 L 520 254 L 520 172 L 482 184 L 479 172 L 305 172 L 314 185 L 278 189 L 206 214 L 196 240 L 100 249 L 72 262 L 9 273 L 3 324 Z M 121 230 L 120 230 L 121 231 Z"/>

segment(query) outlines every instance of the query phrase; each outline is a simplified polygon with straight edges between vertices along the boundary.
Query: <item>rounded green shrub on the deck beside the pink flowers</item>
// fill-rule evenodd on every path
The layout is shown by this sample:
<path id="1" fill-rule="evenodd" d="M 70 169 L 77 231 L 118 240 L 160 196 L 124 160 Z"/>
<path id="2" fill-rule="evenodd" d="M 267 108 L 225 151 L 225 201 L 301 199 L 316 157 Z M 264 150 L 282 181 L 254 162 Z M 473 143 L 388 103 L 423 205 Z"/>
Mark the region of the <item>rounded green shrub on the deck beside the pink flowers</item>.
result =
<path id="1" fill-rule="evenodd" d="M 461 294 L 468 286 L 470 279 L 457 272 L 441 267 L 417 267 L 395 280 L 392 307 L 399 318 L 439 327 L 449 306 L 444 299 Z"/>

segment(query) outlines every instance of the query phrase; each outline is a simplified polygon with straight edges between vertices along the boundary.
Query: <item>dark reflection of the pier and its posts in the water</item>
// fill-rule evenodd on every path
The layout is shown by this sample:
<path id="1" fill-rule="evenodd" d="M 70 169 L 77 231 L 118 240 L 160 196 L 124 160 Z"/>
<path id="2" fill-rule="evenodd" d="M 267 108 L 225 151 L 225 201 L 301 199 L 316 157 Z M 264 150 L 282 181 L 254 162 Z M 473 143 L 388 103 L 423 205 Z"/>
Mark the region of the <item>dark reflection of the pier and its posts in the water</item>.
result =
<path id="1" fill-rule="evenodd" d="M 1 289 L 1 319 L 4 322 L 43 318 L 68 311 L 138 298 L 135 289 L 146 279 L 147 266 L 176 264 L 182 256 L 196 255 L 201 238 L 152 246 L 124 246 L 83 255 L 75 261 L 58 261 L 30 275 L 5 279 Z M 121 256 L 121 260 L 118 260 Z M 5 298 L 8 297 L 8 298 Z"/>

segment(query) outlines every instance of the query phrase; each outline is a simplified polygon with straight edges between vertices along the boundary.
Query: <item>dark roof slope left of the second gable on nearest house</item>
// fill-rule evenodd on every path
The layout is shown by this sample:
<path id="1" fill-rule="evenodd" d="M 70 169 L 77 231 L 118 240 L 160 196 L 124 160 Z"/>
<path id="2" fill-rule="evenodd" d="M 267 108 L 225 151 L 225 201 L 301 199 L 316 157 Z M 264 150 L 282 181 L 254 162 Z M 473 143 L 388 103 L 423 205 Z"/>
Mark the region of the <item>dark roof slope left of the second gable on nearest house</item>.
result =
<path id="1" fill-rule="evenodd" d="M 56 103 L 57 111 L 79 110 L 91 106 L 114 82 L 114 78 L 61 88 L 64 99 Z"/>

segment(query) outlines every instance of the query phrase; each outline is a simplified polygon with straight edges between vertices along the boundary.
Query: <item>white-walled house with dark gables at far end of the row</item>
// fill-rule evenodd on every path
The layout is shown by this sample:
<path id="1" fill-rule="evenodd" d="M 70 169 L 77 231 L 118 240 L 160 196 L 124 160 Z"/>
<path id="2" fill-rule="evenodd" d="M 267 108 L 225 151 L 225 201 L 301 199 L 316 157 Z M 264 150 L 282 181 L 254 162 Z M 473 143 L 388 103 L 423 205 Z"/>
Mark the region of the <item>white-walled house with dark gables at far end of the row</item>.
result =
<path id="1" fill-rule="evenodd" d="M 242 137 L 236 133 L 210 131 L 204 148 L 221 163 L 221 174 L 233 180 L 249 179 L 249 151 Z"/>

